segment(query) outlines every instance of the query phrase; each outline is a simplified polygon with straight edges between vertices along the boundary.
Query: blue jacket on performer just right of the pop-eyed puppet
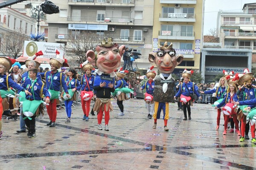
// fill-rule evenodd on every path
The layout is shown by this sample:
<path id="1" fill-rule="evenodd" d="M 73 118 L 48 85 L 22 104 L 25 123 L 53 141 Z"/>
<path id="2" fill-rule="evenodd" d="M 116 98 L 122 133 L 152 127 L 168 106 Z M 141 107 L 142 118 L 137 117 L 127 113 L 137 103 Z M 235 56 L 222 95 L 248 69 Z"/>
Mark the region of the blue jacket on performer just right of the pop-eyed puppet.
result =
<path id="1" fill-rule="evenodd" d="M 193 85 L 194 85 L 194 91 L 193 91 Z M 186 86 L 188 88 L 186 88 Z M 179 91 L 178 93 L 175 95 L 175 97 L 177 96 L 180 96 L 181 94 L 183 96 L 189 96 L 189 92 L 190 94 L 193 94 L 195 93 L 196 96 L 200 97 L 200 94 L 198 93 L 198 91 L 196 90 L 196 87 L 195 87 L 195 83 L 192 83 L 192 82 L 188 82 L 188 83 L 185 83 L 183 82 L 182 84 L 180 84 L 180 88 L 179 88 Z"/>

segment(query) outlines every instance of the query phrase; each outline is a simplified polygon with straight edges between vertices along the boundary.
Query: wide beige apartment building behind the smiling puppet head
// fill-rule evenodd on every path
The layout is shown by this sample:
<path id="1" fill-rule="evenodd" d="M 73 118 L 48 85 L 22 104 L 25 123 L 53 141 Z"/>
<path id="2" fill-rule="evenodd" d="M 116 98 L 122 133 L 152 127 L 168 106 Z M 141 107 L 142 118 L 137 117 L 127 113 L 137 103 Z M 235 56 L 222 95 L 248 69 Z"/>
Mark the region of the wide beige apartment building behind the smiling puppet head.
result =
<path id="1" fill-rule="evenodd" d="M 69 43 L 72 34 L 92 32 L 142 54 L 137 68 L 151 64 L 154 0 L 52 0 L 59 14 L 47 15 L 48 42 Z M 136 67 L 136 65 L 134 65 Z"/>

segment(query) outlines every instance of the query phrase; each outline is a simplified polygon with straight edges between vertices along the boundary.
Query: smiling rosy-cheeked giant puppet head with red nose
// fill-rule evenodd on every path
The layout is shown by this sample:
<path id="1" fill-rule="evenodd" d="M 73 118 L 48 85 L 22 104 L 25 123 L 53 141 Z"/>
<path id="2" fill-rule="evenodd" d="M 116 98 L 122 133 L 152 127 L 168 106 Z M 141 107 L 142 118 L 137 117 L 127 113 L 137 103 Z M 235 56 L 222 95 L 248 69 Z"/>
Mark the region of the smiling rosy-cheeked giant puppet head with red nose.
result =
<path id="1" fill-rule="evenodd" d="M 96 65 L 100 71 L 110 74 L 121 64 L 121 57 L 124 53 L 125 45 L 119 47 L 113 43 L 113 39 L 108 37 L 108 40 L 102 40 L 101 44 L 96 47 L 97 55 L 89 50 L 86 53 L 87 60 Z"/>

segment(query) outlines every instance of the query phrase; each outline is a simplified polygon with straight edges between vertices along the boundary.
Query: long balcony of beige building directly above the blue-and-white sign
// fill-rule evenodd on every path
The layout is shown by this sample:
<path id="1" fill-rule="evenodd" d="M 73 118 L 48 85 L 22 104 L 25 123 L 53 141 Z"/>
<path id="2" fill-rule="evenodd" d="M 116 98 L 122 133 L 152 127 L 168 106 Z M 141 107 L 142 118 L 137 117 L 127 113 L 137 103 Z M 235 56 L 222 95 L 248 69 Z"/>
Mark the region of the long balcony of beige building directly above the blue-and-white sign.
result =
<path id="1" fill-rule="evenodd" d="M 68 23 L 89 23 L 89 24 L 114 24 L 134 25 L 134 18 L 113 18 L 113 17 L 67 17 Z"/>

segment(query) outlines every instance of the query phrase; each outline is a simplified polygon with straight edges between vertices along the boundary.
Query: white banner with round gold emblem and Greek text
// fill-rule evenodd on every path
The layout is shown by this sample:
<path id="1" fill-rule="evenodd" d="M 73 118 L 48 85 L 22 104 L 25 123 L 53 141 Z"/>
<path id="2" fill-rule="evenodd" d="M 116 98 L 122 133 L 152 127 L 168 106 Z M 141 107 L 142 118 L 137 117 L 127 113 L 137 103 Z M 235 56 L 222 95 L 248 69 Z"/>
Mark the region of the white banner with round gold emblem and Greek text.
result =
<path id="1" fill-rule="evenodd" d="M 44 55 L 37 58 L 56 58 L 56 50 L 60 52 L 60 56 L 64 57 L 64 44 L 52 42 L 25 41 L 23 57 L 31 57 L 38 51 L 42 51 Z"/>

